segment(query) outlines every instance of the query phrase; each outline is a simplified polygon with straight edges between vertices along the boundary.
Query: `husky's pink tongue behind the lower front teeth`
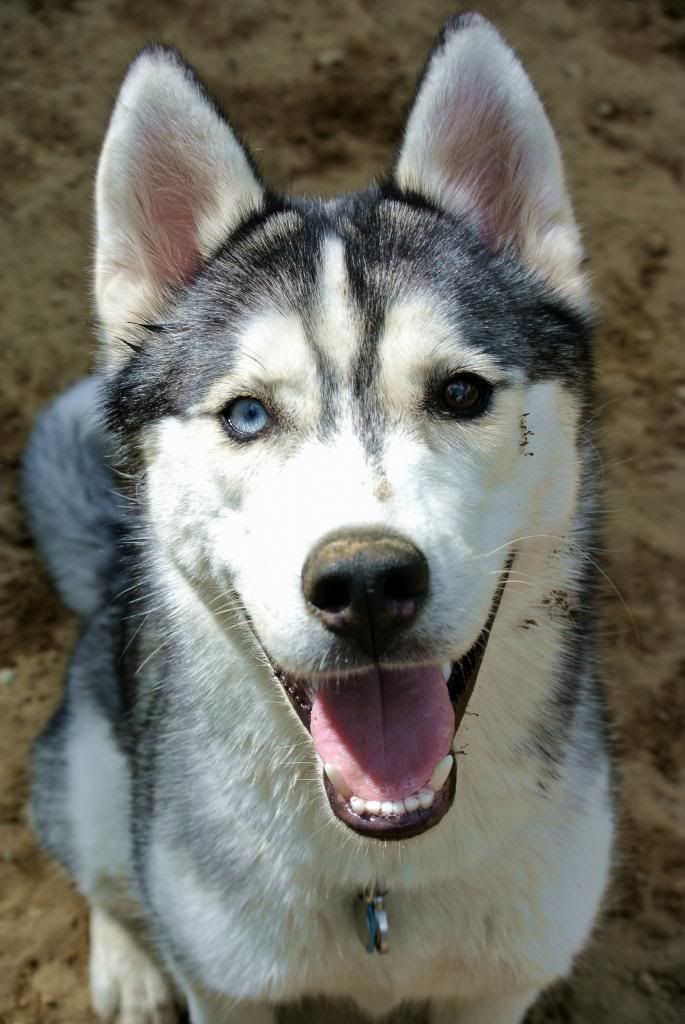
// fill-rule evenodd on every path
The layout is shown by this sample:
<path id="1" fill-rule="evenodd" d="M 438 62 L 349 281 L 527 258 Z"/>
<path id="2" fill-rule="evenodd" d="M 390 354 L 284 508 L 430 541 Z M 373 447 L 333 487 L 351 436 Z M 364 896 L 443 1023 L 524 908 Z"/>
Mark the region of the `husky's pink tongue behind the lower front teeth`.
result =
<path id="1" fill-rule="evenodd" d="M 311 736 L 357 797 L 401 800 L 449 753 L 455 713 L 437 666 L 327 679 L 311 709 Z"/>

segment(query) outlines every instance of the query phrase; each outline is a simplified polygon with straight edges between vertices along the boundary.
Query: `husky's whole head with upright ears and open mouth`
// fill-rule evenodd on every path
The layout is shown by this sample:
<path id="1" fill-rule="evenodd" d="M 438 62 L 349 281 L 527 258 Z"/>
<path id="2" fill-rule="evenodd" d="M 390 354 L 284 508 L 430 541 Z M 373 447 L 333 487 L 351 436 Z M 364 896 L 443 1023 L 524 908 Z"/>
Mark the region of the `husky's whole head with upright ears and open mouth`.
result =
<path id="1" fill-rule="evenodd" d="M 173 53 L 129 72 L 98 174 L 111 418 L 156 550 L 249 624 L 359 831 L 447 809 L 463 666 L 517 540 L 573 514 L 579 264 L 547 119 L 479 18 L 391 180 L 335 202 L 267 194 Z"/>

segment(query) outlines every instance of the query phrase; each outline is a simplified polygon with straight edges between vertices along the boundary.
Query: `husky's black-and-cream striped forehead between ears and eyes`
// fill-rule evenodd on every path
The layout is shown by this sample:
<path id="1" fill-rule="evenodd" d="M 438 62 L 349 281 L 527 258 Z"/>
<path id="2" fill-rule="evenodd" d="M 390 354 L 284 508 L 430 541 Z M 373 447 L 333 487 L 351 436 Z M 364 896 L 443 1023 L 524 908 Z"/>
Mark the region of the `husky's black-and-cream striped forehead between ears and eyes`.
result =
<path id="1" fill-rule="evenodd" d="M 130 429 L 267 389 L 319 432 L 349 412 L 373 445 L 442 373 L 574 387 L 588 377 L 587 325 L 515 256 L 378 189 L 266 210 L 172 318 L 148 341 L 155 357 L 121 379 Z"/>

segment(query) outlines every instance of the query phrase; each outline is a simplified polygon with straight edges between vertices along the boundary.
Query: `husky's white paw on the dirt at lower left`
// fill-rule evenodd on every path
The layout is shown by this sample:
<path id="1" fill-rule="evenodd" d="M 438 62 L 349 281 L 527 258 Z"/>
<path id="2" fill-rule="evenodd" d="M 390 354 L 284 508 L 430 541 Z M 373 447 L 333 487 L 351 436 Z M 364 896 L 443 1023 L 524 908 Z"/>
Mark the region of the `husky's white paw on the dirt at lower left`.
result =
<path id="1" fill-rule="evenodd" d="M 94 909 L 90 919 L 90 996 L 108 1024 L 177 1024 L 171 985 L 119 922 Z"/>

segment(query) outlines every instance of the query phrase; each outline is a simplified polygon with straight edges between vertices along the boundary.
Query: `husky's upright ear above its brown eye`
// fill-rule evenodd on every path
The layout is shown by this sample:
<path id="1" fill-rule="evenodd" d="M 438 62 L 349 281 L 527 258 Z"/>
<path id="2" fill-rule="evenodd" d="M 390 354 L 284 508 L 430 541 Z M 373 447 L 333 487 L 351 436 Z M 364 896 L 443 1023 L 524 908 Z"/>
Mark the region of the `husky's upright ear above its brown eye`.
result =
<path id="1" fill-rule="evenodd" d="M 394 177 L 585 302 L 583 248 L 552 126 L 519 60 L 480 15 L 451 18 L 437 40 Z"/>

